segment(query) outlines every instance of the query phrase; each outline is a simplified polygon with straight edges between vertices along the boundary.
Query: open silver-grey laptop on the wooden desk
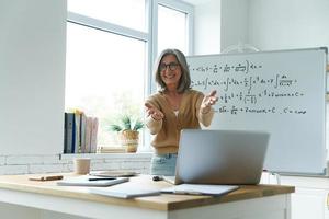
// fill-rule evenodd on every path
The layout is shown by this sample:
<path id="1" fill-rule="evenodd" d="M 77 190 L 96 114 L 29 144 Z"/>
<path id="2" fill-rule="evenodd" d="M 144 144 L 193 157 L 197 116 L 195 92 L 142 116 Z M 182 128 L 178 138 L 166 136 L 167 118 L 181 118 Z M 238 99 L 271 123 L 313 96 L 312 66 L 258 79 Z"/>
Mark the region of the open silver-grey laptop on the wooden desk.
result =
<path id="1" fill-rule="evenodd" d="M 254 185 L 260 182 L 270 134 L 247 130 L 183 129 L 175 185 Z"/>

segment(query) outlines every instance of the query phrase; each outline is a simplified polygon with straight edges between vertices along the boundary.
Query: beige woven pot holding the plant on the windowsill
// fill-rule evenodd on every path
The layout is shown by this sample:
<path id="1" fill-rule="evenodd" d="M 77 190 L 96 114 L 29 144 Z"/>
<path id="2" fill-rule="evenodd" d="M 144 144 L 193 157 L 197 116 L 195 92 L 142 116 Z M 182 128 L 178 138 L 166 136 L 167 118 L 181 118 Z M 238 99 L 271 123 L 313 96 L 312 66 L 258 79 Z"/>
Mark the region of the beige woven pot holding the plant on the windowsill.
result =
<path id="1" fill-rule="evenodd" d="M 128 153 L 135 153 L 138 148 L 139 132 L 136 130 L 123 130 L 120 135 L 121 145 Z"/>

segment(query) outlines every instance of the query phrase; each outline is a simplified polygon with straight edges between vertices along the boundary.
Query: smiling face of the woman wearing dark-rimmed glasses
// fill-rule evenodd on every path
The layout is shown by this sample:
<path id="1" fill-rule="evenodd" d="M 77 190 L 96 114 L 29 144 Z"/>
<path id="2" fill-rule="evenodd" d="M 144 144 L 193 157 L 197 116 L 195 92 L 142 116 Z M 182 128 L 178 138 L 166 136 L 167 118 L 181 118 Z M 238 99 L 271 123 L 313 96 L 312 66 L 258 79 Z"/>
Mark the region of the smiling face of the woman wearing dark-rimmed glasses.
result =
<path id="1" fill-rule="evenodd" d="M 163 56 L 160 62 L 160 76 L 167 87 L 177 88 L 182 76 L 181 67 L 174 55 Z"/>

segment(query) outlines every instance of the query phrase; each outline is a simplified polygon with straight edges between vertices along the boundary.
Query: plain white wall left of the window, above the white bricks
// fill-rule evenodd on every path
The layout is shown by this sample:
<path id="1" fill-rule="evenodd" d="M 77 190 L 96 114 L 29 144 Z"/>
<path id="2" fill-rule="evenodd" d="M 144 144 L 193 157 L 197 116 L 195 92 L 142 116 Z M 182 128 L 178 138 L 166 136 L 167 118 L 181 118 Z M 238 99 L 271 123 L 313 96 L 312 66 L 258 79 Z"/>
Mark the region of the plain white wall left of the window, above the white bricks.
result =
<path id="1" fill-rule="evenodd" d="M 0 33 L 0 154 L 60 153 L 66 0 L 1 0 Z"/>

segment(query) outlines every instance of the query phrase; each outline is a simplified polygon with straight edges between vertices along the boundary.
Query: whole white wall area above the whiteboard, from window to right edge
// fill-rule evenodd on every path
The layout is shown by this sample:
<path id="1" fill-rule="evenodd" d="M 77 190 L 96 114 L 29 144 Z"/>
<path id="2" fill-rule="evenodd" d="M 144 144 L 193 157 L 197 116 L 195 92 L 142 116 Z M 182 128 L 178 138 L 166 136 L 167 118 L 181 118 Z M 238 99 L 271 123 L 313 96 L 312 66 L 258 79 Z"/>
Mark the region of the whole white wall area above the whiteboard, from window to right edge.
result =
<path id="1" fill-rule="evenodd" d="M 239 43 L 261 50 L 329 47 L 328 11 L 328 0 L 206 1 L 195 5 L 195 54 Z"/>

